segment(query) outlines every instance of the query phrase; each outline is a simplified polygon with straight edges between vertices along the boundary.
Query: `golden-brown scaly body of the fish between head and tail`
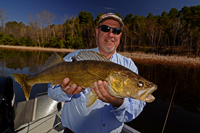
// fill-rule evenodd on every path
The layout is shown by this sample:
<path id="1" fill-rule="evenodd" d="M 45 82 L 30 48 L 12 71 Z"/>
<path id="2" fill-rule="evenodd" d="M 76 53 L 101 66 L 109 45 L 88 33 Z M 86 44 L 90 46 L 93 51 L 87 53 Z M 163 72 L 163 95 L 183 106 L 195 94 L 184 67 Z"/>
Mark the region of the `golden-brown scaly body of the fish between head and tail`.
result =
<path id="1" fill-rule="evenodd" d="M 59 84 L 65 77 L 70 78 L 70 85 L 76 83 L 83 86 L 83 82 L 87 82 L 92 87 L 94 81 L 107 81 L 109 73 L 112 71 L 120 71 L 124 67 L 113 65 L 111 62 L 101 61 L 77 61 L 63 62 L 36 75 L 28 76 L 27 80 L 32 83 L 54 83 Z M 106 70 L 103 71 L 102 70 Z M 85 83 L 84 83 L 85 84 Z"/>

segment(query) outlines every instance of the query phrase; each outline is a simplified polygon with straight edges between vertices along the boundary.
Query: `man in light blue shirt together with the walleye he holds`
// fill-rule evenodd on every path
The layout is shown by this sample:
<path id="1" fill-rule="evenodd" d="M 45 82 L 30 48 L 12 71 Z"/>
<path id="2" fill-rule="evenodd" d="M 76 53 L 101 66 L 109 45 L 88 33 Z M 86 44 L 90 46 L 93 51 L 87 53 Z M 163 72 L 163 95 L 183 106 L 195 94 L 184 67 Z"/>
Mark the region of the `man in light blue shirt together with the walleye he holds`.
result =
<path id="1" fill-rule="evenodd" d="M 102 15 L 96 28 L 98 47 L 64 57 L 52 55 L 35 75 L 12 74 L 29 99 L 34 84 L 51 83 L 48 95 L 65 102 L 61 114 L 67 133 L 120 133 L 145 102 L 155 98 L 152 82 L 138 75 L 134 62 L 116 53 L 123 22 L 113 13 Z"/>

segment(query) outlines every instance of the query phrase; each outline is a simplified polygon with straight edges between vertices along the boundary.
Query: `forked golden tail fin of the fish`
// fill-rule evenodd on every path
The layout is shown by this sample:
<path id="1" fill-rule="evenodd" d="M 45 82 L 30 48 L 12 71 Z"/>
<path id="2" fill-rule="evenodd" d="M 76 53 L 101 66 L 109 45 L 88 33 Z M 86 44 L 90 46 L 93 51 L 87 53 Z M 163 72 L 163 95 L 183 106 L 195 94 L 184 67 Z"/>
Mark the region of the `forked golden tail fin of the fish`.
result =
<path id="1" fill-rule="evenodd" d="M 17 81 L 21 85 L 21 87 L 23 87 L 24 95 L 26 97 L 26 100 L 28 101 L 32 88 L 32 86 L 28 85 L 26 81 L 26 77 L 29 75 L 25 74 L 11 74 L 11 75 L 14 77 L 15 81 Z"/>

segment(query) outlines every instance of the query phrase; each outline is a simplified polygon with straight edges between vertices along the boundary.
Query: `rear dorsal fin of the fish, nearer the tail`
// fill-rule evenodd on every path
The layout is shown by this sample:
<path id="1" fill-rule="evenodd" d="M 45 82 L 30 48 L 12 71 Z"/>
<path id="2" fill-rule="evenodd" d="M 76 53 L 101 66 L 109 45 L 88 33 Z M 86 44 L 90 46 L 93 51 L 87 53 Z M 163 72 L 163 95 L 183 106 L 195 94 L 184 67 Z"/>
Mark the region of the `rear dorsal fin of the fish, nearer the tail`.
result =
<path id="1" fill-rule="evenodd" d="M 42 67 L 41 71 L 44 71 L 44 70 L 46 70 L 46 69 L 48 69 L 48 68 L 50 68 L 50 67 L 52 67 L 52 66 L 54 66 L 54 65 L 57 65 L 57 64 L 59 64 L 59 63 L 61 63 L 61 62 L 65 62 L 65 61 L 63 60 L 63 58 L 62 58 L 59 54 L 53 53 L 53 54 L 48 58 L 46 64 Z"/>

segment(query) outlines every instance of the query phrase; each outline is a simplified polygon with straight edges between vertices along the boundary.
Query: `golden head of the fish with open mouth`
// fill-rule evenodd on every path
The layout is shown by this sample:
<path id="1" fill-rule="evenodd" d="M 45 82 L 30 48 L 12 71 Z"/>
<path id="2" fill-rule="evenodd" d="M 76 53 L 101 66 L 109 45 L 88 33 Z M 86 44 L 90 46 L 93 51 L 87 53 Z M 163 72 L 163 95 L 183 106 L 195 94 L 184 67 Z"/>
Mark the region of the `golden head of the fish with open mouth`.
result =
<path id="1" fill-rule="evenodd" d="M 109 77 L 108 88 L 110 94 L 116 97 L 153 102 L 155 97 L 151 93 L 157 85 L 132 72 L 116 72 Z"/>

